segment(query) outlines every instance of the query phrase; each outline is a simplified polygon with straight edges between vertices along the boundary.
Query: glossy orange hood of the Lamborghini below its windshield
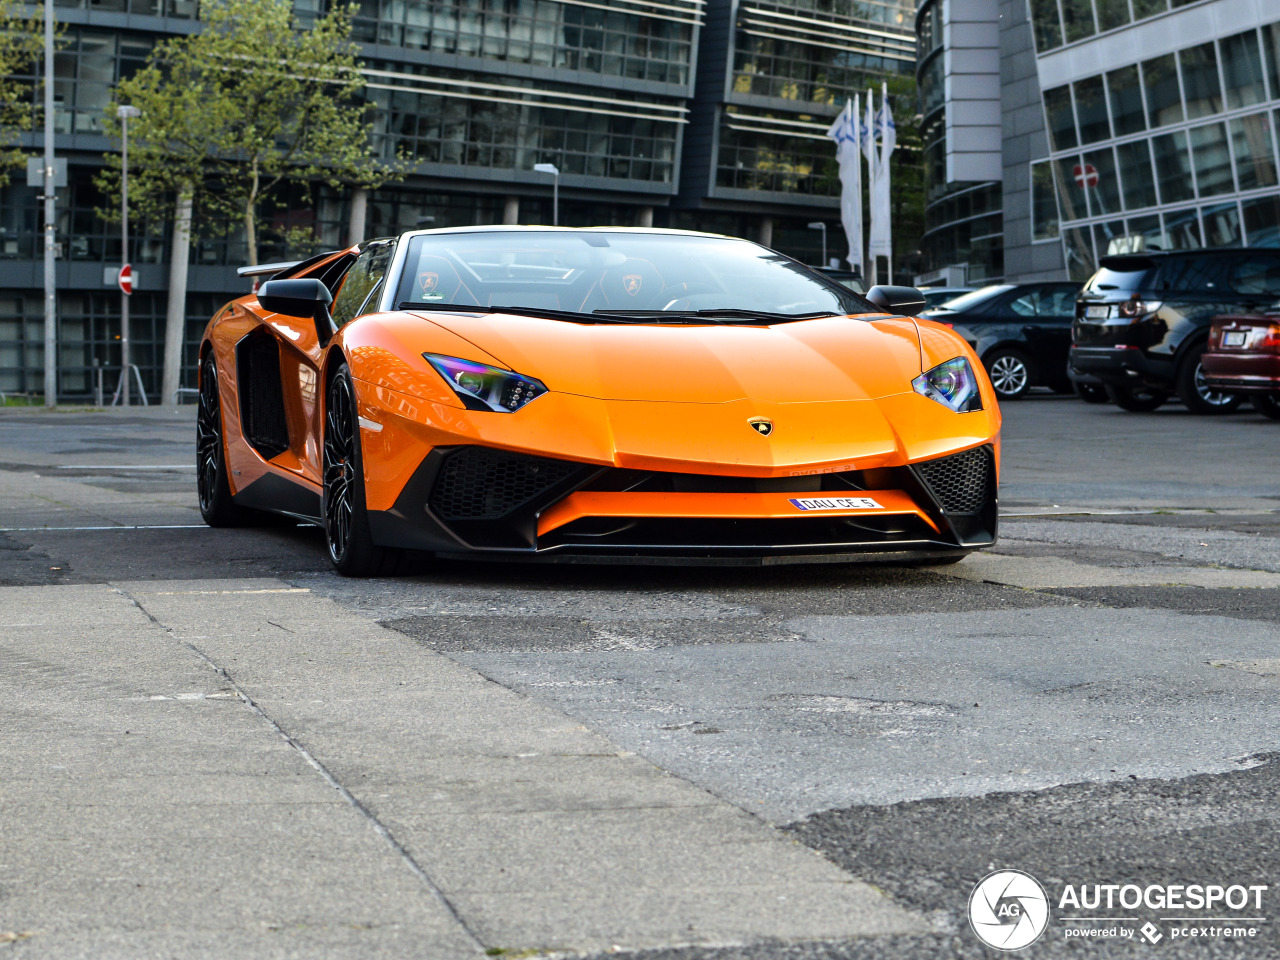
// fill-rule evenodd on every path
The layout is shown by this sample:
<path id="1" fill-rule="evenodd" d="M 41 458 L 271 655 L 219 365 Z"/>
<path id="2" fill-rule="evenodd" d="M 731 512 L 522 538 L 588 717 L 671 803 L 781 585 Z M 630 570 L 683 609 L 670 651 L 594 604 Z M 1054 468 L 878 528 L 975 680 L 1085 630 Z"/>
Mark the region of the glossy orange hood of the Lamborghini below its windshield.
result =
<path id="1" fill-rule="evenodd" d="M 909 317 L 748 326 L 576 324 L 504 314 L 416 316 L 509 369 L 536 376 L 553 392 L 595 399 L 878 399 L 909 393 L 920 374 L 919 333 Z"/>

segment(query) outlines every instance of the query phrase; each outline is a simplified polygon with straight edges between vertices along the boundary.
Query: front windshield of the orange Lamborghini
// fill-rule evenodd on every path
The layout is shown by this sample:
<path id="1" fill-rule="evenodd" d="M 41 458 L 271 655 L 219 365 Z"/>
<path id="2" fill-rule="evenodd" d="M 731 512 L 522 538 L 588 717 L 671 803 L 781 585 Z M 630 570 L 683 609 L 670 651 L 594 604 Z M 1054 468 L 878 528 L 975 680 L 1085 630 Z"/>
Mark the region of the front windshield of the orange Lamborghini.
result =
<path id="1" fill-rule="evenodd" d="M 707 321 L 722 312 L 739 320 L 882 312 L 808 266 L 748 241 L 604 230 L 413 237 L 397 302 L 401 308 L 558 311 L 600 321 L 655 314 Z"/>

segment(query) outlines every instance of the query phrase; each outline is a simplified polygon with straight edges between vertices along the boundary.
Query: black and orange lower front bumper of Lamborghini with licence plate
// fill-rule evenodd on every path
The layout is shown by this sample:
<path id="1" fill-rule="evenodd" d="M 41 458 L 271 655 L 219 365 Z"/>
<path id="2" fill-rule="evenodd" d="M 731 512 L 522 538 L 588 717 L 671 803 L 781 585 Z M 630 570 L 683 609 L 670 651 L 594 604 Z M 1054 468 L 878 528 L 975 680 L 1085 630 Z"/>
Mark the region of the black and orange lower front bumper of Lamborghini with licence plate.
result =
<path id="1" fill-rule="evenodd" d="M 838 506 L 846 502 L 858 506 Z M 996 541 L 995 448 L 896 468 L 756 479 L 444 447 L 422 460 L 390 509 L 370 512 L 370 526 L 384 547 L 445 557 L 690 564 L 943 559 Z"/>

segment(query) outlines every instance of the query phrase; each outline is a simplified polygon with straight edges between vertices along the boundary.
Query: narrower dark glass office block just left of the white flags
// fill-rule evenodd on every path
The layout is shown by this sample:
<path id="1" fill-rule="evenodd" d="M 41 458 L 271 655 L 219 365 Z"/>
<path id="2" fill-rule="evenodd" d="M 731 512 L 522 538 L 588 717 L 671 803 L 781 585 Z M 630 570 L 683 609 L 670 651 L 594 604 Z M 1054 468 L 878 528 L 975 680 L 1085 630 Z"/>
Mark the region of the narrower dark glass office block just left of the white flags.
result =
<path id="1" fill-rule="evenodd" d="M 911 0 L 710 0 L 672 225 L 758 238 L 819 262 L 845 252 L 827 138 L 855 93 L 914 68 Z M 914 104 L 895 104 L 911 114 Z"/>

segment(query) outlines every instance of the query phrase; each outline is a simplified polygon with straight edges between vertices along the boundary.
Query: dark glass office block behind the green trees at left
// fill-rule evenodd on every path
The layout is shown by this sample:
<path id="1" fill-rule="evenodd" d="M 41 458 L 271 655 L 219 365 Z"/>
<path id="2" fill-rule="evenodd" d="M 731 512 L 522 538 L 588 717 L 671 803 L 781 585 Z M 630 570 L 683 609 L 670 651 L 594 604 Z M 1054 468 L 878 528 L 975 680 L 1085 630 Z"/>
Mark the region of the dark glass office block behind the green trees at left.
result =
<path id="1" fill-rule="evenodd" d="M 306 22 L 323 0 L 298 0 Z M 93 393 L 95 367 L 119 374 L 122 262 L 114 209 L 93 174 L 118 148 L 102 133 L 114 86 L 152 46 L 188 32 L 193 0 L 67 0 L 56 4 L 64 42 L 55 56 L 55 148 L 69 163 L 58 196 L 59 393 Z M 534 164 L 561 170 L 561 223 L 662 221 L 680 177 L 703 0 L 364 0 L 362 45 L 374 136 L 388 156 L 413 163 L 402 183 L 367 198 L 366 236 L 419 225 L 550 223 L 552 183 Z M 33 91 L 37 84 L 33 83 Z M 37 150 L 35 136 L 24 136 Z M 35 393 L 42 380 L 42 210 L 18 172 L 0 191 L 0 392 Z M 296 256 L 285 230 L 310 228 L 319 246 L 349 241 L 351 191 L 316 187 L 278 197 L 260 257 Z M 169 237 L 134 218 L 131 358 L 159 398 Z M 218 305 L 248 289 L 243 233 L 193 244 L 188 351 Z M 193 378 L 193 353 L 184 369 Z"/>

